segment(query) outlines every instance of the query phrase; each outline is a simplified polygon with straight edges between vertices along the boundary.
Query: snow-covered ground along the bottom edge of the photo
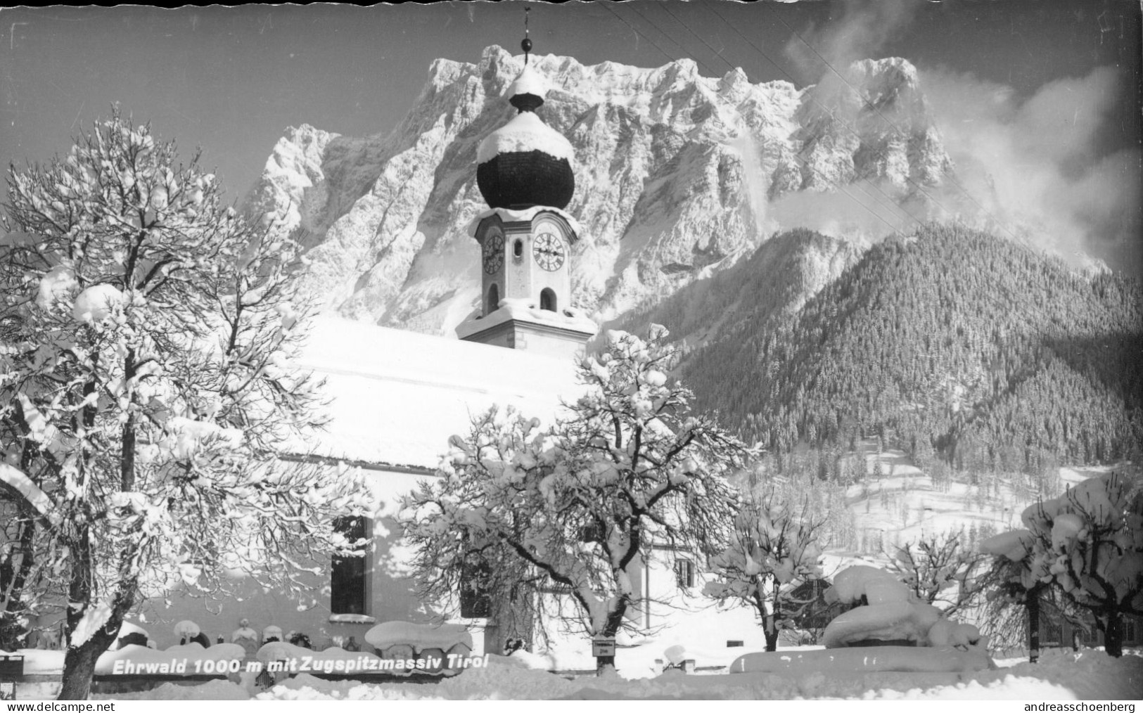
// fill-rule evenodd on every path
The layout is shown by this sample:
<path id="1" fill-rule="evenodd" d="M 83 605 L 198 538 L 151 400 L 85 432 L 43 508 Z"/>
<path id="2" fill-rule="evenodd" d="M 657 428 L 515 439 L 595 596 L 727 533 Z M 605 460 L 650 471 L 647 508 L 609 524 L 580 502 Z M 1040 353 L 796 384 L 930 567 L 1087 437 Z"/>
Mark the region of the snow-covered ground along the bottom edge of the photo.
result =
<path id="1" fill-rule="evenodd" d="M 1138 652 L 1137 652 L 1138 654 Z M 494 659 L 495 660 L 495 659 Z M 687 675 L 672 671 L 649 679 L 567 679 L 529 670 L 511 659 L 488 668 L 470 668 L 437 684 L 323 681 L 301 674 L 267 691 L 259 700 L 369 699 L 512 699 L 512 698 L 719 698 L 719 699 L 1034 699 L 1130 700 L 1143 697 L 1143 657 L 1120 659 L 1103 651 L 1048 650 L 1040 662 L 999 660 L 999 668 L 970 674 L 716 674 Z M 245 699 L 242 687 L 216 681 L 195 687 L 163 684 L 118 699 Z M 106 698 L 112 698 L 106 696 Z"/>

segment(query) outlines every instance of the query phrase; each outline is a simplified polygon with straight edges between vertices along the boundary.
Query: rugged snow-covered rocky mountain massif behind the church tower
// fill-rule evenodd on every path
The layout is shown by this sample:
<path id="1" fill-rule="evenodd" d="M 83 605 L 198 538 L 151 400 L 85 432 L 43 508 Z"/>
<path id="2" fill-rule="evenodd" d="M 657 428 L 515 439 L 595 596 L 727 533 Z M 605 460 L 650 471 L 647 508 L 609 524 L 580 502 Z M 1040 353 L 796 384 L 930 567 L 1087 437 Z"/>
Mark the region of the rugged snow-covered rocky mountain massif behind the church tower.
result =
<path id="1" fill-rule="evenodd" d="M 768 199 L 872 181 L 903 201 L 951 171 L 904 59 L 802 89 L 741 70 L 701 77 L 689 59 L 531 62 L 551 86 L 538 113 L 575 149 L 578 306 L 605 318 L 752 253 L 776 227 Z M 278 142 L 249 205 L 305 231 L 307 279 L 328 307 L 446 335 L 471 311 L 477 145 L 513 115 L 503 95 L 521 63 L 499 47 L 478 64 L 438 59 L 389 135 L 302 126 Z"/>

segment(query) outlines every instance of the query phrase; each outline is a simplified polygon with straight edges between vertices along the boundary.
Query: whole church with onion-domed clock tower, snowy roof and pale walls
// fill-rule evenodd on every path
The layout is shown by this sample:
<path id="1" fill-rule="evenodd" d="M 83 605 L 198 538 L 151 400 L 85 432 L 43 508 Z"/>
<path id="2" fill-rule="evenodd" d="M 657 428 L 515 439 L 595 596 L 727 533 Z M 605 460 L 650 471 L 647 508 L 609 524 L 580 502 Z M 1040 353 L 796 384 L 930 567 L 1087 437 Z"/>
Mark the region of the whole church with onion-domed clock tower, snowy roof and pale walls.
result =
<path id="1" fill-rule="evenodd" d="M 347 534 L 370 537 L 374 551 L 325 563 L 323 574 L 309 577 L 313 591 L 303 601 L 253 586 L 217 600 L 185 592 L 157 596 L 144 612 L 144 626 L 160 646 L 177 641 L 159 622 L 182 619 L 195 622 L 211 641 L 218 635 L 229 640 L 238 623 L 248 619 L 256 631 L 273 626 L 287 636 L 304 633 L 319 648 L 344 644 L 350 636 L 361 642 L 382 622 L 433 622 L 432 603 L 413 591 L 411 558 L 395 520 L 401 497 L 438 476 L 449 436 L 466 433 L 472 418 L 490 407 L 511 406 L 546 424 L 582 391 L 576 363 L 598 327 L 572 306 L 570 272 L 581 227 L 565 209 L 575 191 L 574 154 L 568 141 L 536 114 L 544 80 L 528 66 L 530 42 L 525 42 L 523 70 L 507 91 L 518 113 L 478 149 L 477 182 L 488 203 L 471 223 L 479 245 L 480 301 L 457 326 L 458 339 L 325 317 L 317 320 L 298 364 L 325 378 L 330 420 L 287 458 L 362 470 L 384 508 L 376 520 L 346 519 L 344 527 Z M 637 595 L 653 592 L 656 599 L 705 603 L 694 556 L 648 553 L 640 570 Z M 670 616 L 685 609 L 684 603 Z M 740 612 L 732 617 L 741 620 L 738 631 L 752 618 L 748 610 Z M 646 610 L 632 616 L 648 631 L 664 623 L 653 622 Z M 472 628 L 481 650 L 488 622 L 459 623 Z M 710 630 L 700 622 L 695 627 Z M 761 630 L 752 628 L 762 641 Z M 590 642 L 582 636 L 569 636 L 567 646 L 582 648 L 590 660 Z"/>

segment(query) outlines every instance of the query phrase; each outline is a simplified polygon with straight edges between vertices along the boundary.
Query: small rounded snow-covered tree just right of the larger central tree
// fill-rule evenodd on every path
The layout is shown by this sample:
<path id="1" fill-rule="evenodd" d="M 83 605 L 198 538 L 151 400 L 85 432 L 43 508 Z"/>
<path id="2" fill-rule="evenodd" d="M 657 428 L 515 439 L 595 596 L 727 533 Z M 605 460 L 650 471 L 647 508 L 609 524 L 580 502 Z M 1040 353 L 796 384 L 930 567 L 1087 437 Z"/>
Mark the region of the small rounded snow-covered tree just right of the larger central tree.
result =
<path id="1" fill-rule="evenodd" d="M 777 648 L 778 627 L 816 601 L 799 585 L 822 577 L 821 522 L 774 491 L 751 494 L 734 519 L 729 545 L 711 559 L 714 579 L 703 591 L 719 601 L 752 607 L 766 630 L 766 650 Z"/>

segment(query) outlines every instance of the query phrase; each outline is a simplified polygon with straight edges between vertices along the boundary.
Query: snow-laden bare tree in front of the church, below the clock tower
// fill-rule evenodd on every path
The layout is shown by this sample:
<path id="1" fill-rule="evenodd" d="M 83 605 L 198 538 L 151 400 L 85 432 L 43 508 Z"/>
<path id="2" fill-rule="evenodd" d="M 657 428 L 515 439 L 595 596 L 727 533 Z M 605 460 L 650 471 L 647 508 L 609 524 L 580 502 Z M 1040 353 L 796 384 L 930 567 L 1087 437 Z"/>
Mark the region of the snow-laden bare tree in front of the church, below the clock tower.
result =
<path id="1" fill-rule="evenodd" d="M 464 572 L 482 569 L 494 590 L 530 582 L 563 592 L 565 620 L 610 638 L 640 604 L 642 553 L 725 548 L 736 510 L 727 476 L 749 454 L 692 414 L 690 392 L 666 376 L 676 353 L 665 338 L 662 328 L 647 341 L 610 333 L 607 350 L 581 364 L 588 393 L 550 428 L 494 409 L 453 436 L 443 478 L 403 512 L 424 596 L 455 602 Z"/>

